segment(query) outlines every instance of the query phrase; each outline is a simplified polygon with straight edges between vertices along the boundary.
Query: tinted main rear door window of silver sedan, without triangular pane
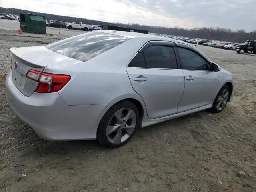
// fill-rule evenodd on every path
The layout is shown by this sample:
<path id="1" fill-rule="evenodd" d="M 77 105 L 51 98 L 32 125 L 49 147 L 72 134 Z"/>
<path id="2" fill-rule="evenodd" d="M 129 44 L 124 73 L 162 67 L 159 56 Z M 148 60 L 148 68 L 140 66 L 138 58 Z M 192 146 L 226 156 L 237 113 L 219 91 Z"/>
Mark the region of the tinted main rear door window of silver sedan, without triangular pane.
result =
<path id="1" fill-rule="evenodd" d="M 172 47 L 150 46 L 143 53 L 147 68 L 177 68 L 176 57 Z"/>

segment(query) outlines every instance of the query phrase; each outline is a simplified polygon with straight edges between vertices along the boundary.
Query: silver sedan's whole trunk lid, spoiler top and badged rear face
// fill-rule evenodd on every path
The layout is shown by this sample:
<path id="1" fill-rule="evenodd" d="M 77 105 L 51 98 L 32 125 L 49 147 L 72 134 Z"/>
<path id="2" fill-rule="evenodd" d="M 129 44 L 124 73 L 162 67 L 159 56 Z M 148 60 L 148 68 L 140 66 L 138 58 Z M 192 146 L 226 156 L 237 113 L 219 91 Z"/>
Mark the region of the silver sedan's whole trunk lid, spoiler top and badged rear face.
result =
<path id="1" fill-rule="evenodd" d="M 38 82 L 26 77 L 28 70 L 42 72 L 46 66 L 81 62 L 48 50 L 44 46 L 11 48 L 11 52 L 12 82 L 25 96 L 32 95 L 38 86 Z"/>

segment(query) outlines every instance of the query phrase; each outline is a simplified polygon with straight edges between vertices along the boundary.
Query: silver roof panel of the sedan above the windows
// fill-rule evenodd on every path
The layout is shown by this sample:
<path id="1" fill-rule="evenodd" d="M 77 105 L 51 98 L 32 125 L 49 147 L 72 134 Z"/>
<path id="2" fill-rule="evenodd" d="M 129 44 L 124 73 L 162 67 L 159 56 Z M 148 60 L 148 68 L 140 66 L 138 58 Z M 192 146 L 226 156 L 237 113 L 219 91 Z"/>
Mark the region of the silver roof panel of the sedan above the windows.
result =
<path id="1" fill-rule="evenodd" d="M 144 34 L 144 33 L 127 32 L 127 31 L 114 31 L 114 30 L 100 30 L 100 31 L 93 31 L 93 32 L 102 32 L 102 33 L 114 34 L 114 35 L 119 35 L 119 36 L 123 36 L 123 37 L 127 37 L 127 38 L 145 38 L 148 41 L 170 41 L 170 42 L 177 42 L 177 43 L 183 43 L 183 44 L 190 45 L 189 43 L 186 43 L 186 42 L 181 41 L 181 40 L 162 37 L 162 36 L 156 36 L 156 35 L 150 35 L 150 34 Z"/>

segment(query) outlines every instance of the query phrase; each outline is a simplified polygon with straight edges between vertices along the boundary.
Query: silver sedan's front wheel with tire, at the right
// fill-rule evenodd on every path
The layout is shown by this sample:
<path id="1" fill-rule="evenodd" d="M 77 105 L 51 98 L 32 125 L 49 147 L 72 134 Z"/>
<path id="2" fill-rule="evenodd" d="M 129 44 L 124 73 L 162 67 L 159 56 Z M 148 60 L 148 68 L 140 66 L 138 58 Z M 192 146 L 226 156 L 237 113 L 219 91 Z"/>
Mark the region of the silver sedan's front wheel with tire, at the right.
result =
<path id="1" fill-rule="evenodd" d="M 212 104 L 212 108 L 210 110 L 213 113 L 221 112 L 225 108 L 225 106 L 228 102 L 229 96 L 230 96 L 230 89 L 227 85 L 224 85 L 218 92 L 218 94 Z"/>

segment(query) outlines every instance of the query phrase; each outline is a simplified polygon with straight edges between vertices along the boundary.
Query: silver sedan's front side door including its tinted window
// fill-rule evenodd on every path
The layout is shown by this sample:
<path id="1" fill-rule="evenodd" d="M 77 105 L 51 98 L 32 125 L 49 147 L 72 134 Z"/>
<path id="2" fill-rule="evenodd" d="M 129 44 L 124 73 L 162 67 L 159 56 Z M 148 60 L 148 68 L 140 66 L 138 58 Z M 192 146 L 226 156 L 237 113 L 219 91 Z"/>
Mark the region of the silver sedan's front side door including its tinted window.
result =
<path id="1" fill-rule="evenodd" d="M 218 87 L 218 72 L 212 71 L 210 60 L 196 48 L 185 44 L 176 44 L 182 72 L 185 76 L 185 89 L 178 112 L 210 105 Z"/>

